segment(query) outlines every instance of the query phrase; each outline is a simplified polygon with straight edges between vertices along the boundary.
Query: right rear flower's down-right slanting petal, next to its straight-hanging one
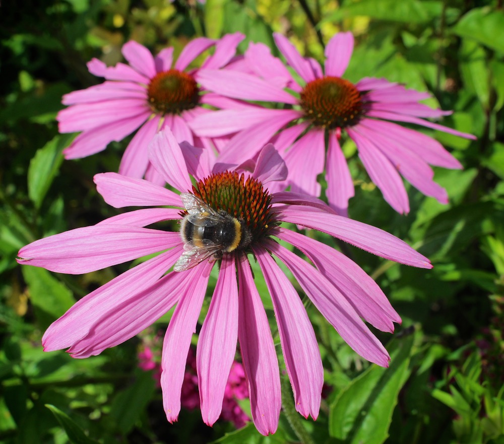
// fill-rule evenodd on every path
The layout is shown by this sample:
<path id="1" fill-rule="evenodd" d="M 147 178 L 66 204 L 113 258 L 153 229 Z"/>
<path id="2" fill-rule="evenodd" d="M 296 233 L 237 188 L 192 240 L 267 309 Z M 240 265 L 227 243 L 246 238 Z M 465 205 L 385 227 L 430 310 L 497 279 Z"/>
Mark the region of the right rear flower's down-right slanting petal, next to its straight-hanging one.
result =
<path id="1" fill-rule="evenodd" d="M 409 201 L 403 180 L 397 169 L 372 141 L 357 131 L 346 129 L 359 150 L 359 157 L 371 180 L 383 193 L 384 199 L 400 214 L 409 213 Z"/>

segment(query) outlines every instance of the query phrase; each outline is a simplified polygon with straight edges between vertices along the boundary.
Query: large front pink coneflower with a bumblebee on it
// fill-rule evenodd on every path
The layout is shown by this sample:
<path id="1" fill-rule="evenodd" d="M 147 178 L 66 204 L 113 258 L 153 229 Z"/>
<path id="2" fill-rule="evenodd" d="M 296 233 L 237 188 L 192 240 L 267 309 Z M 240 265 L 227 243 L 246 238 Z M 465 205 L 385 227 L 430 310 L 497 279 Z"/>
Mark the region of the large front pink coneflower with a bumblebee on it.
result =
<path id="1" fill-rule="evenodd" d="M 389 355 L 362 319 L 387 332 L 392 332 L 393 323 L 401 319 L 379 286 L 354 262 L 328 245 L 281 227 L 281 223 L 324 231 L 403 264 L 421 268 L 431 265 L 402 240 L 338 216 L 316 198 L 291 192 L 270 194 L 268 184 L 286 177 L 285 163 L 272 145 L 264 147 L 256 161 L 228 165 L 226 169 L 210 157 L 210 150 L 184 145 L 181 149 L 173 135 L 164 130 L 155 136 L 149 151 L 150 162 L 182 195 L 117 173 L 94 177 L 98 192 L 113 207 L 162 208 L 119 214 L 21 248 L 19 263 L 71 274 L 161 252 L 76 302 L 47 329 L 42 338 L 44 350 L 68 348 L 76 358 L 97 355 L 141 332 L 176 304 L 161 358 L 164 409 L 168 420 L 175 421 L 185 368 L 180 357 L 187 356 L 210 271 L 219 262 L 217 283 L 197 346 L 202 416 L 211 425 L 221 413 L 238 341 L 255 425 L 263 434 L 273 433 L 281 403 L 279 367 L 250 269 L 249 260 L 254 258 L 273 301 L 296 409 L 304 417 L 317 418 L 324 382 L 317 339 L 297 290 L 274 257 L 287 266 L 350 347 L 371 362 L 387 366 Z M 183 201 L 191 203 L 187 211 Z M 201 202 L 199 211 L 194 202 Z M 234 249 L 214 248 L 214 255 L 208 256 L 208 248 L 215 243 L 204 230 L 223 229 L 206 224 L 211 213 L 226 214 L 236 221 L 238 228 L 248 233 L 246 246 L 236 246 L 241 244 L 238 241 Z M 145 228 L 159 221 L 181 220 L 180 233 Z M 193 241 L 185 238 L 189 223 L 201 230 Z M 313 265 L 274 238 L 301 250 Z M 166 273 L 173 266 L 180 271 Z"/>

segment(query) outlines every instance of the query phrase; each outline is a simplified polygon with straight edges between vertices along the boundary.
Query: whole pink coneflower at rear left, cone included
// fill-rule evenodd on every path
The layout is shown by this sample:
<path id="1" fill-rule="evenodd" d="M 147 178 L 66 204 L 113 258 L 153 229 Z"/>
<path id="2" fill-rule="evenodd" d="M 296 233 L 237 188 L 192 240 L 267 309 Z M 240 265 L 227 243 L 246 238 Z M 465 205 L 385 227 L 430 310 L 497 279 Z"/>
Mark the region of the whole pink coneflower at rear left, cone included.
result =
<path id="1" fill-rule="evenodd" d="M 170 128 L 177 141 L 195 144 L 195 136 L 187 122 L 210 110 L 203 104 L 222 106 L 216 94 L 201 94 L 195 80 L 198 70 L 187 67 L 203 51 L 215 46 L 202 68 L 219 69 L 234 56 L 236 46 L 244 38 L 240 33 L 228 34 L 220 40 L 196 38 L 182 50 L 173 63 L 173 48 L 165 48 L 155 57 L 140 43 L 129 41 L 122 54 L 129 65 L 115 67 L 93 58 L 88 69 L 106 82 L 74 91 L 63 97 L 70 105 L 58 113 L 60 133 L 82 133 L 65 151 L 67 159 L 86 157 L 102 151 L 112 141 L 120 141 L 138 130 L 124 151 L 119 173 L 161 182 L 156 170 L 149 167 L 147 147 L 162 128 Z M 229 101 L 229 99 L 227 100 Z M 208 140 L 197 138 L 198 146 Z"/>

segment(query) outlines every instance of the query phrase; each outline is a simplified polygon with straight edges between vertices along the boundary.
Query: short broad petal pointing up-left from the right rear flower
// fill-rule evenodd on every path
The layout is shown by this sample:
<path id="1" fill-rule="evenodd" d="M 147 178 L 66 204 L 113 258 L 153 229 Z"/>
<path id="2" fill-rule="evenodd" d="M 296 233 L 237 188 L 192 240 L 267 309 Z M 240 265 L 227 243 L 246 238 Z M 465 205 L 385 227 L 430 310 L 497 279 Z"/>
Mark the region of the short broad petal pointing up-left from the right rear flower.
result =
<path id="1" fill-rule="evenodd" d="M 275 85 L 277 88 L 285 88 L 293 82 L 289 70 L 277 57 L 271 55 L 270 48 L 264 43 L 250 42 L 245 51 L 245 60 L 249 68 L 258 77 Z"/>

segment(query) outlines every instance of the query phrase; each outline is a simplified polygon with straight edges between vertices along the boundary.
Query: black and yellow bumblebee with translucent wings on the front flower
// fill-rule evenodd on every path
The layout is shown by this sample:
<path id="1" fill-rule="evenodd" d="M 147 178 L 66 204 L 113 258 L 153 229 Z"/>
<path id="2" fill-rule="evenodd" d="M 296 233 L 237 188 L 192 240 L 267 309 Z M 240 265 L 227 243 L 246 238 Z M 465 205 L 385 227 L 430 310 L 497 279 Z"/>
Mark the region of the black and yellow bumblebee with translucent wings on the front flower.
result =
<path id="1" fill-rule="evenodd" d="M 250 229 L 223 210 L 215 211 L 190 193 L 180 195 L 187 215 L 180 222 L 184 252 L 174 271 L 193 268 L 207 258 L 220 259 L 222 253 L 246 248 L 251 240 Z"/>

